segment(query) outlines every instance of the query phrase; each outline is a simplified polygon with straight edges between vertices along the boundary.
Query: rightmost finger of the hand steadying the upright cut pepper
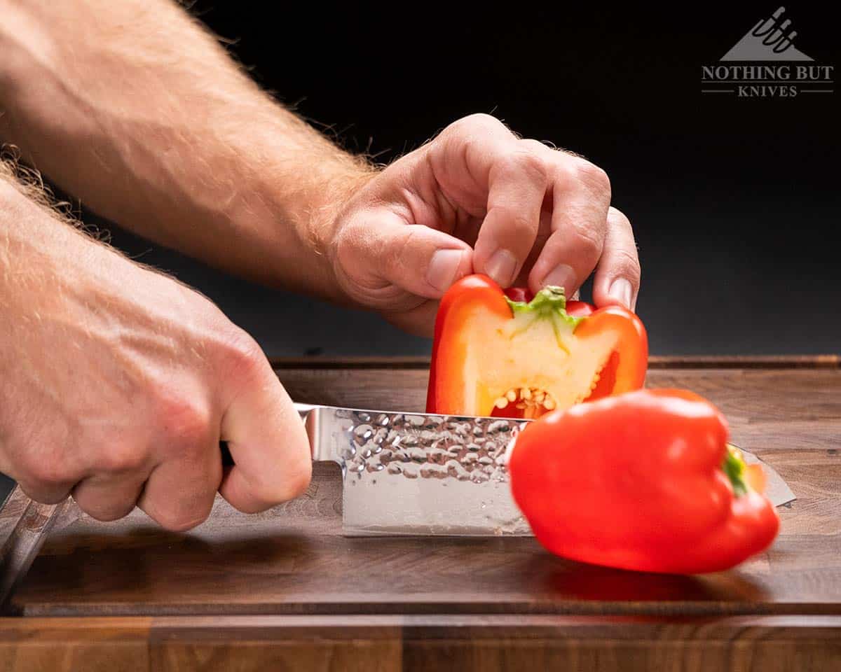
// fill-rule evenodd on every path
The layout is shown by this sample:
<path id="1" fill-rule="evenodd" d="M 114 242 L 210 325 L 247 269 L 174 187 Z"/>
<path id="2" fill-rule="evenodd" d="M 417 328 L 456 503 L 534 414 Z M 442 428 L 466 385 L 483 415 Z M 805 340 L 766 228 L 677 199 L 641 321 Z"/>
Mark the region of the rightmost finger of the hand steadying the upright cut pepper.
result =
<path id="1" fill-rule="evenodd" d="M 605 248 L 593 280 L 593 300 L 601 306 L 637 307 L 640 266 L 628 218 L 615 207 L 607 213 Z"/>

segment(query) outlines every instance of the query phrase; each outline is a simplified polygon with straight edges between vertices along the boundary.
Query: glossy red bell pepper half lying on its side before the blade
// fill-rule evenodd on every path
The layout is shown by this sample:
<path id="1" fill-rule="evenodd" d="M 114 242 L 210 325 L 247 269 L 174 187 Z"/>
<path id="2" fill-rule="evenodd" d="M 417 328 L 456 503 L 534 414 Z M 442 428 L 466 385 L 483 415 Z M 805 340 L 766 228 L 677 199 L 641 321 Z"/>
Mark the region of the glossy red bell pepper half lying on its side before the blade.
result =
<path id="1" fill-rule="evenodd" d="M 509 459 L 511 491 L 537 539 L 565 558 L 701 574 L 766 549 L 779 529 L 759 465 L 727 444 L 701 396 L 639 390 L 529 424 Z"/>

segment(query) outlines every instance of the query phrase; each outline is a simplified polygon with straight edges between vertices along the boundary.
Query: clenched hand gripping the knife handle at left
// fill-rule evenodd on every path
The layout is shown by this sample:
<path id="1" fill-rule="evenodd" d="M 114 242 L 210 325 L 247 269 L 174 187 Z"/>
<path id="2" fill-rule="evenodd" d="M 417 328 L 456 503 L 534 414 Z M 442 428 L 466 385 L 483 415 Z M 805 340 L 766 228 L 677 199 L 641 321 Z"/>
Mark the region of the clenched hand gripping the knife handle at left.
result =
<path id="1" fill-rule="evenodd" d="M 166 528 L 217 490 L 244 512 L 309 482 L 302 423 L 257 344 L 207 299 L 94 243 L 0 164 L 0 471 L 100 520 Z M 7 176 L 8 177 L 8 176 Z M 236 465 L 223 475 L 219 441 Z"/>

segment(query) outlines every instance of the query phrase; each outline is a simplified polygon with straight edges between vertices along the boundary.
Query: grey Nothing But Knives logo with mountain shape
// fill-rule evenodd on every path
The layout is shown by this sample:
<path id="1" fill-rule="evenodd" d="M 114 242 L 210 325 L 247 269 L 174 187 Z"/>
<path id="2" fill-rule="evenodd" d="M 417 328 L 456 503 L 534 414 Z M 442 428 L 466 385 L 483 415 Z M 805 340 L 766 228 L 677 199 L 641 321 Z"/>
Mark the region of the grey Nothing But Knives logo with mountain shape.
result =
<path id="1" fill-rule="evenodd" d="M 738 98 L 793 98 L 833 93 L 835 66 L 817 63 L 797 49 L 797 31 L 780 7 L 754 27 L 717 64 L 701 66 L 701 93 Z"/>

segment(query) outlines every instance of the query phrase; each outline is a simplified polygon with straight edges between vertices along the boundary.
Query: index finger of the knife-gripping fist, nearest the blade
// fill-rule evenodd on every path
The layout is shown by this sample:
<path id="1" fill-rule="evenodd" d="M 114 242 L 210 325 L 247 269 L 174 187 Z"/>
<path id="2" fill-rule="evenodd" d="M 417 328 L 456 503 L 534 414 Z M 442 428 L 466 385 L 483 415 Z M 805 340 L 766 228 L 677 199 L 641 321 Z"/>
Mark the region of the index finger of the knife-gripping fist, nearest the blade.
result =
<path id="1" fill-rule="evenodd" d="M 235 466 L 220 493 L 246 513 L 299 496 L 312 473 L 309 440 L 292 401 L 264 357 L 251 367 L 222 419 Z"/>

